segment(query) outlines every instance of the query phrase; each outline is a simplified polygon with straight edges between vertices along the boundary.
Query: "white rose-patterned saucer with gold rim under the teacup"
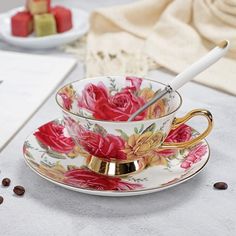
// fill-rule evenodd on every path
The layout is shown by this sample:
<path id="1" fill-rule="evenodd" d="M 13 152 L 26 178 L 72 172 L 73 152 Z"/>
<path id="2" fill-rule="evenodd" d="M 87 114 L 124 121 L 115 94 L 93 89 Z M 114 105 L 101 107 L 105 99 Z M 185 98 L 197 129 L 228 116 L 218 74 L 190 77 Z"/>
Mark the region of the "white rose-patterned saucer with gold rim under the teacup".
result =
<path id="1" fill-rule="evenodd" d="M 193 128 L 184 126 L 192 137 L 198 135 Z M 145 159 L 147 167 L 142 172 L 128 177 L 109 177 L 86 167 L 88 154 L 74 144 L 63 121 L 56 119 L 26 139 L 23 153 L 27 165 L 54 184 L 82 193 L 118 197 L 153 193 L 187 181 L 205 167 L 210 148 L 206 140 L 202 140 L 190 149 L 157 152 Z"/>

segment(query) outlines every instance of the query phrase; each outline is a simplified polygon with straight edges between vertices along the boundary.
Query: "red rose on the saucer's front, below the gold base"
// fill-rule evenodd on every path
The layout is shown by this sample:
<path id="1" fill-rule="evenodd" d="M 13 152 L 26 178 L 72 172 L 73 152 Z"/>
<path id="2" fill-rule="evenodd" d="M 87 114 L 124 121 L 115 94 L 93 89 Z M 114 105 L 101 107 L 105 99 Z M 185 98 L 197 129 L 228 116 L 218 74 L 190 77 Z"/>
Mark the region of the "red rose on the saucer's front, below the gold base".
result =
<path id="1" fill-rule="evenodd" d="M 118 177 L 103 176 L 85 168 L 69 170 L 64 176 L 64 183 L 81 188 L 113 191 L 129 191 L 142 188 L 141 184 L 129 183 Z"/>

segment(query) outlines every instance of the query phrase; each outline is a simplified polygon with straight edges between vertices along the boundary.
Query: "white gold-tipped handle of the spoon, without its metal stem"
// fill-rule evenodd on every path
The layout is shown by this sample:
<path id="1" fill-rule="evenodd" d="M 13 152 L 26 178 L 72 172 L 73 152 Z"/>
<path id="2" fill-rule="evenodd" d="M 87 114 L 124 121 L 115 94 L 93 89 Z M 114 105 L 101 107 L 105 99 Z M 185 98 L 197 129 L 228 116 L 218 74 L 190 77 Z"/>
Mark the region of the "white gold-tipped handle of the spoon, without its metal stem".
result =
<path id="1" fill-rule="evenodd" d="M 197 62 L 193 63 L 186 70 L 178 74 L 175 79 L 169 84 L 173 90 L 178 90 L 196 75 L 200 74 L 206 68 L 217 62 L 223 57 L 229 48 L 229 41 L 222 41 L 218 46 L 212 49 L 208 54 L 202 57 Z"/>

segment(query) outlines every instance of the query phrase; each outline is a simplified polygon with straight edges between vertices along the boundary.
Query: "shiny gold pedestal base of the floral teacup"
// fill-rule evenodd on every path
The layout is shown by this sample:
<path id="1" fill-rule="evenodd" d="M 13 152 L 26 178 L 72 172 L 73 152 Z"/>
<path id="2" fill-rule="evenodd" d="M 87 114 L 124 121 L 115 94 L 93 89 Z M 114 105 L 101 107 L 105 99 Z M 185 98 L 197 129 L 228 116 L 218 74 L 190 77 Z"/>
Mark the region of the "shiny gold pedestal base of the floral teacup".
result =
<path id="1" fill-rule="evenodd" d="M 129 162 L 109 162 L 92 156 L 87 163 L 87 167 L 99 174 L 108 176 L 127 176 L 140 172 L 145 168 L 145 162 L 141 158 Z"/>

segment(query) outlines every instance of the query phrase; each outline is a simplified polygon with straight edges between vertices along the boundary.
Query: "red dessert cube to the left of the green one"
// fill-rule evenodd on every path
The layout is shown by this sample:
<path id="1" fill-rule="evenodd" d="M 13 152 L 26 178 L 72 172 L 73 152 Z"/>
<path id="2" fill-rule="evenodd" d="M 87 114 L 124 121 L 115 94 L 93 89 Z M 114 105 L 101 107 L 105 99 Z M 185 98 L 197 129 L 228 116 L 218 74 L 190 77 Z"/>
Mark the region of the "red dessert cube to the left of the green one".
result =
<path id="1" fill-rule="evenodd" d="M 18 37 L 27 37 L 33 31 L 33 17 L 27 12 L 18 12 L 11 17 L 12 35 Z"/>

